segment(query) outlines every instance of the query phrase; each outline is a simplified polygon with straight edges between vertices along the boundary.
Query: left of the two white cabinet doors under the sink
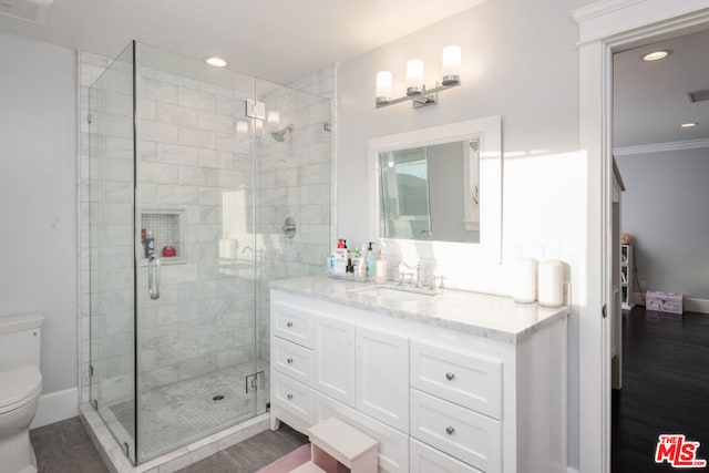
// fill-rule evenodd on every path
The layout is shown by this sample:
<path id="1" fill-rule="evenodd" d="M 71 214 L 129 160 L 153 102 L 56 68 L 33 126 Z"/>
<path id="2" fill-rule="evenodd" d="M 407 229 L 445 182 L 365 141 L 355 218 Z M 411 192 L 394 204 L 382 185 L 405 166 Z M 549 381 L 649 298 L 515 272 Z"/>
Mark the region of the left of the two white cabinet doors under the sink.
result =
<path id="1" fill-rule="evenodd" d="M 354 405 L 354 325 L 330 317 L 315 317 L 312 354 L 312 387 Z"/>

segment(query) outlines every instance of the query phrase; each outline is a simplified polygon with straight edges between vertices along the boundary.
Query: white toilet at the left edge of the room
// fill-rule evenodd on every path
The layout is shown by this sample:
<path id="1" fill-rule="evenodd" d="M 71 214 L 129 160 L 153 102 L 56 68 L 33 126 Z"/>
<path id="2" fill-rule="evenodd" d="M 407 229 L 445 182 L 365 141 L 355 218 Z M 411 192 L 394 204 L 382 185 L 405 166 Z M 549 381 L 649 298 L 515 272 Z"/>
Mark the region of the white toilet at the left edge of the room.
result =
<path id="1" fill-rule="evenodd" d="M 42 391 L 38 313 L 0 317 L 0 471 L 35 473 L 30 424 Z"/>

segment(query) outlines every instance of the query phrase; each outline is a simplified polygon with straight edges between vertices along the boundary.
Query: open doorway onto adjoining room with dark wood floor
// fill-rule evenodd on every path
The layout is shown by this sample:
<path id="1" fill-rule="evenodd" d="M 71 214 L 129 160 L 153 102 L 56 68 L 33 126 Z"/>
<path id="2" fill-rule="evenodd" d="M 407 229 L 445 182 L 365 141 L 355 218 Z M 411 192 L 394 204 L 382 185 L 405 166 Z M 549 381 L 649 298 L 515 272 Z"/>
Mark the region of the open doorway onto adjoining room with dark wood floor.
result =
<path id="1" fill-rule="evenodd" d="M 690 229 L 695 207 L 703 214 L 709 202 L 709 192 L 695 195 L 709 174 L 709 101 L 699 93 L 709 89 L 708 47 L 709 30 L 691 30 L 614 51 L 613 150 L 627 191 L 623 212 L 613 203 L 612 263 L 621 269 L 612 277 L 613 301 L 616 287 L 628 294 L 612 320 L 613 472 L 665 470 L 654 456 L 662 433 L 709 442 L 695 422 L 709 410 L 695 381 L 706 374 L 696 360 L 709 354 L 701 345 L 708 318 L 691 311 L 691 299 L 685 316 L 644 307 L 648 289 L 707 297 L 703 245 L 692 236 L 706 233 Z M 621 232 L 633 241 L 618 251 Z"/>

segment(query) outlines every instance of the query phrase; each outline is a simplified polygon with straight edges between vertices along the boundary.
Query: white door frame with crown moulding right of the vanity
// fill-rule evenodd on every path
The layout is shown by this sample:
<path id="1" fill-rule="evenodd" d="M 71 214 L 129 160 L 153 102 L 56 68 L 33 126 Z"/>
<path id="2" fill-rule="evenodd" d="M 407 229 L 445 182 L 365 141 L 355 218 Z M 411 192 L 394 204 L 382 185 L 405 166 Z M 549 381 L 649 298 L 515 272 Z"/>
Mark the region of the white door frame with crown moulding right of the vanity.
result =
<path id="1" fill-rule="evenodd" d="M 579 150 L 587 160 L 585 304 L 579 307 L 579 471 L 610 471 L 613 53 L 709 23 L 709 0 L 602 0 L 578 23 Z M 600 381 L 600 382 L 599 382 Z"/>

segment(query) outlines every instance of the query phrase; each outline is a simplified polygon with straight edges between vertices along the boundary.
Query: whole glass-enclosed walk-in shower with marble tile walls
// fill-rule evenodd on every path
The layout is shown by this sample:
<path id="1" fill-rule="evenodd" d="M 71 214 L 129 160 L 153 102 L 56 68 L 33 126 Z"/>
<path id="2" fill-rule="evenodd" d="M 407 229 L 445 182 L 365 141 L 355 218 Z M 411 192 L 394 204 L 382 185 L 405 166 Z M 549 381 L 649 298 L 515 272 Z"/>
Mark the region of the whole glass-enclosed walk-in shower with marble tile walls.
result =
<path id="1" fill-rule="evenodd" d="M 328 254 L 330 104 L 138 43 L 86 92 L 85 401 L 137 464 L 267 411 L 268 281 Z"/>

